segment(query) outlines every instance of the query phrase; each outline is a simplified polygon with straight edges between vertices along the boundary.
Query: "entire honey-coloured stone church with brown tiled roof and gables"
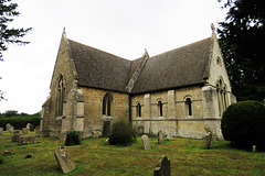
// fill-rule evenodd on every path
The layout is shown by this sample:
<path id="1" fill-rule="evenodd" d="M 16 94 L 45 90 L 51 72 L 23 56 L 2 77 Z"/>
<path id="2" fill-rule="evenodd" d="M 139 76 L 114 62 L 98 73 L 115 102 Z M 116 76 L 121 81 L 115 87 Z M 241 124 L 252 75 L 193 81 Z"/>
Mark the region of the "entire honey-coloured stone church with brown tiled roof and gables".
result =
<path id="1" fill-rule="evenodd" d="M 42 136 L 81 131 L 108 135 L 125 118 L 139 133 L 201 139 L 208 127 L 222 138 L 221 117 L 235 102 L 225 64 L 212 36 L 156 56 L 128 61 L 78 42 L 65 32 L 43 103 Z"/>

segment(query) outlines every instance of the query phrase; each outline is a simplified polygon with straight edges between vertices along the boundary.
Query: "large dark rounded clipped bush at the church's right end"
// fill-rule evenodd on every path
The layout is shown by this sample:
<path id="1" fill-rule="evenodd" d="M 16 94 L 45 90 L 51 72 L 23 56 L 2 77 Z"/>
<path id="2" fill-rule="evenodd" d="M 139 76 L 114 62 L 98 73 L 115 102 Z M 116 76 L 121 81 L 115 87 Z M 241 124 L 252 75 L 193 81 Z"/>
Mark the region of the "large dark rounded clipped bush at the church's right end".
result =
<path id="1" fill-rule="evenodd" d="M 265 146 L 265 107 L 257 101 L 231 105 L 223 113 L 221 129 L 224 140 L 236 145 Z"/>

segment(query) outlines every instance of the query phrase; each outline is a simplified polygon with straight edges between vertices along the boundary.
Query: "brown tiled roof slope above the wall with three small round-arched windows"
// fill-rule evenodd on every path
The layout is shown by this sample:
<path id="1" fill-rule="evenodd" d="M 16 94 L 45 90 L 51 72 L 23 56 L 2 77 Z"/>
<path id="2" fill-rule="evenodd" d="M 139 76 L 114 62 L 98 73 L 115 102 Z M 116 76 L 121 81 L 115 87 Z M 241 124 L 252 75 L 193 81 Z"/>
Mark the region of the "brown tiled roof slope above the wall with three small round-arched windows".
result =
<path id="1" fill-rule="evenodd" d="M 209 77 L 212 38 L 148 58 L 132 94 L 203 84 Z"/>

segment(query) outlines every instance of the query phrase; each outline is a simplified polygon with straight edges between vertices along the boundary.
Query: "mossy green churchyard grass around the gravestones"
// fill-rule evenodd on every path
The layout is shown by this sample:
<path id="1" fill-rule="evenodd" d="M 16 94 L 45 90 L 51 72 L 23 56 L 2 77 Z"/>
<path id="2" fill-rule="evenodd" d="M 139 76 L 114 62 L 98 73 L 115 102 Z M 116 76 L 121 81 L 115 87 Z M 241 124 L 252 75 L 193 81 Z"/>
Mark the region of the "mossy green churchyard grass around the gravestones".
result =
<path id="1" fill-rule="evenodd" d="M 0 135 L 1 176 L 63 175 L 54 157 L 54 150 L 63 146 L 55 138 L 38 139 L 40 143 L 18 146 L 10 138 Z M 203 140 L 176 138 L 158 144 L 150 139 L 151 150 L 142 150 L 141 139 L 130 146 L 105 145 L 105 138 L 86 139 L 81 145 L 66 146 L 76 169 L 66 175 L 95 176 L 151 176 L 160 155 L 171 161 L 171 175 L 265 175 L 265 153 L 252 153 L 229 147 L 229 142 L 219 141 L 211 150 L 204 150 Z M 31 154 L 32 158 L 25 158 Z"/>

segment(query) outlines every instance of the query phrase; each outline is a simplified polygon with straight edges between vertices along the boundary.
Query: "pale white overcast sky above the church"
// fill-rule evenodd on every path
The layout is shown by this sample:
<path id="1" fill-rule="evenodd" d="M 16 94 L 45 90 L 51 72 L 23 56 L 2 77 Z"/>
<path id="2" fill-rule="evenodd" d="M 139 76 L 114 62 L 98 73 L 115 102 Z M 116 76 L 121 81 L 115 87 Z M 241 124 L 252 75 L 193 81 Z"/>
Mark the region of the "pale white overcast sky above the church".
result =
<path id="1" fill-rule="evenodd" d="M 0 112 L 35 113 L 50 92 L 63 29 L 73 41 L 135 59 L 203 40 L 225 11 L 218 0 L 22 0 L 10 25 L 32 28 L 25 46 L 9 45 L 0 62 Z"/>

